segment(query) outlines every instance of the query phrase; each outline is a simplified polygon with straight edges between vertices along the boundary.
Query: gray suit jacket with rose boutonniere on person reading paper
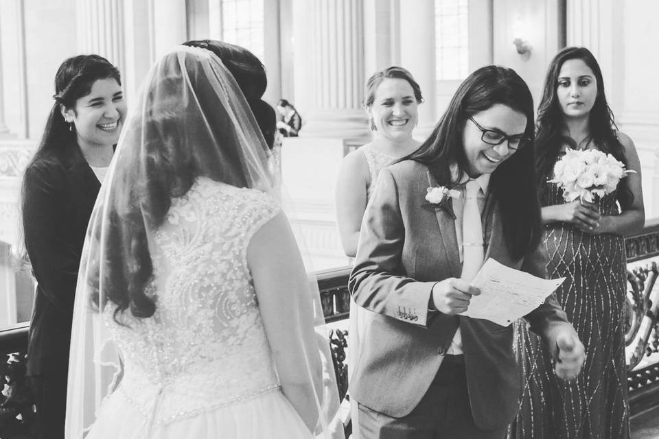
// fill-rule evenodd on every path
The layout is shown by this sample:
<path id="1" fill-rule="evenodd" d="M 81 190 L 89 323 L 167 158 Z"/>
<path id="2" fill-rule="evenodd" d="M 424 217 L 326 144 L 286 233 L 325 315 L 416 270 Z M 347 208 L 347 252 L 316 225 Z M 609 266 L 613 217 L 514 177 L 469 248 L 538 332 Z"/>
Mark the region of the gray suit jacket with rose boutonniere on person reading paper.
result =
<path id="1" fill-rule="evenodd" d="M 350 394 L 376 412 L 400 418 L 419 404 L 459 326 L 474 423 L 483 430 L 514 418 L 520 369 L 513 356 L 513 328 L 488 320 L 428 311 L 432 286 L 461 275 L 454 219 L 428 206 L 428 186 L 439 186 L 428 168 L 404 161 L 382 169 L 362 222 L 349 289 L 358 305 L 375 311 L 350 382 Z M 483 209 L 485 258 L 545 276 L 538 249 L 513 259 L 503 240 L 494 197 Z M 548 346 L 569 325 L 554 296 L 526 316 Z M 553 345 L 552 345 L 553 344 Z"/>

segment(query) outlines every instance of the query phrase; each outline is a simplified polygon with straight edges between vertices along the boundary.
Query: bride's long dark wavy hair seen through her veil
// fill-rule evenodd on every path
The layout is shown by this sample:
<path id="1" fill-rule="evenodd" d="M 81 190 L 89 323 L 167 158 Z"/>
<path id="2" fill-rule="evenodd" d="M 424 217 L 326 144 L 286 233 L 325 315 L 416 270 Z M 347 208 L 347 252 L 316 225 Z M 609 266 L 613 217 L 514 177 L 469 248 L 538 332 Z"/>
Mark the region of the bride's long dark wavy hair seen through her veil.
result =
<path id="1" fill-rule="evenodd" d="M 248 53 L 246 49 L 234 46 L 222 61 L 227 65 L 233 60 L 230 58 L 232 54 L 242 56 L 242 51 Z M 170 54 L 172 58 L 178 55 Z M 258 62 L 257 58 L 253 59 Z M 127 190 L 108 188 L 108 205 L 114 209 L 108 209 L 110 216 L 104 230 L 106 236 L 102 239 L 105 248 L 100 254 L 106 257 L 104 260 L 91 259 L 104 267 L 102 303 L 99 303 L 100 279 L 91 279 L 90 282 L 94 287 L 93 305 L 97 308 L 103 307 L 108 300 L 113 302 L 117 305 L 115 320 L 126 309 L 137 318 L 149 318 L 156 310 L 157 297 L 147 291 L 153 278 L 147 230 L 157 229 L 163 224 L 173 198 L 185 195 L 198 176 L 235 187 L 251 187 L 242 152 L 237 146 L 241 139 L 234 127 L 235 115 L 230 114 L 235 109 L 222 109 L 218 91 L 205 75 L 198 74 L 198 62 L 198 58 L 186 56 L 183 66 L 178 62 L 159 64 L 162 71 L 155 75 L 157 82 L 148 84 L 141 103 L 141 108 L 148 110 L 139 116 L 141 119 L 136 116 L 124 133 L 124 139 L 141 139 L 142 147 L 128 144 L 126 140 L 127 144 L 123 146 L 126 153 L 121 155 L 122 152 L 118 152 L 112 182 L 123 182 Z M 233 69 L 229 71 L 238 86 L 253 86 L 244 82 L 242 76 L 243 71 L 251 75 L 252 67 L 244 64 L 243 69 L 236 67 L 242 64 L 232 65 Z M 187 98 L 200 112 L 191 111 L 179 102 L 182 84 L 192 89 L 194 96 Z M 255 132 L 256 128 L 254 126 Z M 185 133 L 209 135 L 190 139 Z M 264 149 L 265 146 L 262 145 Z M 96 214 L 102 213 L 103 209 L 99 207 Z M 90 233 L 95 233 L 95 239 L 101 241 L 101 230 L 92 229 L 90 227 Z M 100 270 L 91 272 L 100 275 Z"/>

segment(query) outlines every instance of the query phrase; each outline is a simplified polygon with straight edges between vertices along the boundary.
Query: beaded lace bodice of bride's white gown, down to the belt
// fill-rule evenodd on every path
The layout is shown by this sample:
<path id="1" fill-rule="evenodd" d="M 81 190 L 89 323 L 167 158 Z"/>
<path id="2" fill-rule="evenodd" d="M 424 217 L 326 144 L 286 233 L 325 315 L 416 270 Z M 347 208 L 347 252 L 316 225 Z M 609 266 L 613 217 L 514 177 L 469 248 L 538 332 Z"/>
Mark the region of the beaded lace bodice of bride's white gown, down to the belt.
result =
<path id="1" fill-rule="evenodd" d="M 208 178 L 172 200 L 149 243 L 154 316 L 104 316 L 122 352 L 117 391 L 151 425 L 277 388 L 246 250 L 278 212 L 266 193 Z"/>

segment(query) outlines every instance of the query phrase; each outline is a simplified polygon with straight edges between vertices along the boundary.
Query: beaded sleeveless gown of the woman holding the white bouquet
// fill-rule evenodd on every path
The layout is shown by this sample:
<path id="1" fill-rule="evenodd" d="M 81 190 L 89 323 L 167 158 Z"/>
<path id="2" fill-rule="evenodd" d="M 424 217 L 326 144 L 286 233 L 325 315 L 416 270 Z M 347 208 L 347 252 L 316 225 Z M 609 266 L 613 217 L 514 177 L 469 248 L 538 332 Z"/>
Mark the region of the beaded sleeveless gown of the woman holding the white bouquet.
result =
<path id="1" fill-rule="evenodd" d="M 562 189 L 546 183 L 542 205 L 564 203 Z M 600 202 L 602 215 L 618 214 L 616 194 Z M 549 277 L 566 277 L 556 296 L 586 348 L 573 383 L 559 381 L 553 359 L 522 321 L 516 331 L 524 380 L 520 412 L 511 425 L 517 439 L 629 438 L 625 365 L 625 241 L 619 235 L 590 235 L 573 225 L 545 226 Z"/>

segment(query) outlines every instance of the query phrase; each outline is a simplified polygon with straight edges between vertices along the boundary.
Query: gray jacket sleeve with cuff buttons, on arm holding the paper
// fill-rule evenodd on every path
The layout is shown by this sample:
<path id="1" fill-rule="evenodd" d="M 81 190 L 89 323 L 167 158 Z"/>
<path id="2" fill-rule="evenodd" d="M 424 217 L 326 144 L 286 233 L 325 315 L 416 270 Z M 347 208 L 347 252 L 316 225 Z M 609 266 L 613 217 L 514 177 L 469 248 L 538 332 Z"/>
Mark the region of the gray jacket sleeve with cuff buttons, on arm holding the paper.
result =
<path id="1" fill-rule="evenodd" d="M 382 169 L 362 220 L 348 288 L 361 307 L 427 326 L 428 300 L 435 282 L 417 282 L 404 267 L 406 230 L 399 196 L 391 171 Z"/>

